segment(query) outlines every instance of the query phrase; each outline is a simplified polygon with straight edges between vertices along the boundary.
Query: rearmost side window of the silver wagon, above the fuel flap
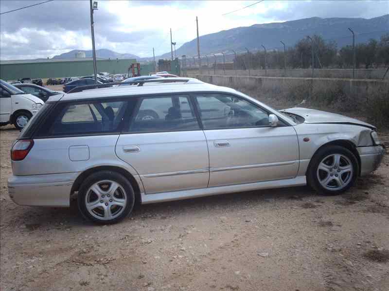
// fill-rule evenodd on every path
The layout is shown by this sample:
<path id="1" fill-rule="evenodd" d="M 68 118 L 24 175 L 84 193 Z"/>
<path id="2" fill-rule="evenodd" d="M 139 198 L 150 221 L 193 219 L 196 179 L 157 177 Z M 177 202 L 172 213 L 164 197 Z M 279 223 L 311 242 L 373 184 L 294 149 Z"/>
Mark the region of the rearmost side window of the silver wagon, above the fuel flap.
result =
<path id="1" fill-rule="evenodd" d="M 126 110 L 127 101 L 59 104 L 36 136 L 119 132 Z"/>

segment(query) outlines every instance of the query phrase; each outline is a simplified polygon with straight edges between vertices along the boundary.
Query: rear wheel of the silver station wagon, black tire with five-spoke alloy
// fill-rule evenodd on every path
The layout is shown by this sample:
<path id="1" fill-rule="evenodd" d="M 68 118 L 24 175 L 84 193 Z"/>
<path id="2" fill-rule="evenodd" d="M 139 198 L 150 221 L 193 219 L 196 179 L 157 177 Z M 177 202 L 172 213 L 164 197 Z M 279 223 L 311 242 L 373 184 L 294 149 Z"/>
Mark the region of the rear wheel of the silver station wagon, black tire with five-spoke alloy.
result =
<path id="1" fill-rule="evenodd" d="M 122 174 L 99 171 L 89 175 L 81 184 L 77 203 L 86 219 L 99 224 L 114 224 L 132 211 L 135 194 L 131 183 Z"/>

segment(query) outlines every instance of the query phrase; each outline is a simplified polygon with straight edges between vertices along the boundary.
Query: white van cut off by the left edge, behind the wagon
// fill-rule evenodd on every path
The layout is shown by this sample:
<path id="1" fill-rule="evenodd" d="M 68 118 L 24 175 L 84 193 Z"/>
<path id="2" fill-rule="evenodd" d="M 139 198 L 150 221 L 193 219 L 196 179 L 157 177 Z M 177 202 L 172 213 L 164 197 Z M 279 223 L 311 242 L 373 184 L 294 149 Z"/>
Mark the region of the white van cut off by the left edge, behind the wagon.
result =
<path id="1" fill-rule="evenodd" d="M 42 105 L 40 98 L 0 80 L 0 126 L 13 124 L 23 129 Z"/>

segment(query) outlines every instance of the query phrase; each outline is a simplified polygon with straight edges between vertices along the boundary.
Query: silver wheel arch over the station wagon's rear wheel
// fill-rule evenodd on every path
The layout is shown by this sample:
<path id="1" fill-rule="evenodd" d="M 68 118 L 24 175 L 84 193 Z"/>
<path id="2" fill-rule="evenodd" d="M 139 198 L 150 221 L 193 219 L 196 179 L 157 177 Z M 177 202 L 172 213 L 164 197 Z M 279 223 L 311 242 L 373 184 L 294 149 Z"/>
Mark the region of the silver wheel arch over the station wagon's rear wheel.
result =
<path id="1" fill-rule="evenodd" d="M 125 178 L 129 180 L 131 183 L 132 188 L 134 189 L 135 194 L 135 203 L 141 204 L 141 188 L 137 180 L 134 178 L 134 176 L 125 170 L 124 168 L 118 167 L 118 166 L 96 166 L 93 168 L 89 168 L 82 172 L 78 177 L 74 180 L 73 185 L 71 187 L 71 194 L 74 192 L 77 192 L 80 189 L 80 186 L 82 182 L 91 174 L 98 172 L 98 171 L 114 171 L 117 173 L 122 174 Z"/>

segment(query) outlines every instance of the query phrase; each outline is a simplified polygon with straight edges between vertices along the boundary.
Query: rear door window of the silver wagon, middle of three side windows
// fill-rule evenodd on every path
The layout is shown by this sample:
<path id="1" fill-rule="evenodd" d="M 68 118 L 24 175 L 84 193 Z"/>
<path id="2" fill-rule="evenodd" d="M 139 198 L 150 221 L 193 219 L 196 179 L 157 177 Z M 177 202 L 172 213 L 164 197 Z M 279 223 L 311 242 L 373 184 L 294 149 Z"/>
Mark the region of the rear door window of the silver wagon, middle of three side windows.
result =
<path id="1" fill-rule="evenodd" d="M 130 132 L 200 129 L 187 96 L 140 99 L 130 124 Z"/>

